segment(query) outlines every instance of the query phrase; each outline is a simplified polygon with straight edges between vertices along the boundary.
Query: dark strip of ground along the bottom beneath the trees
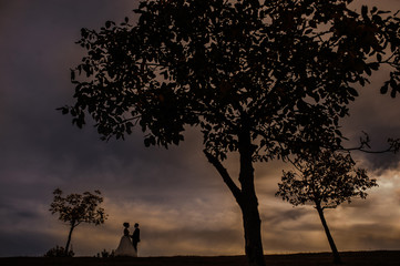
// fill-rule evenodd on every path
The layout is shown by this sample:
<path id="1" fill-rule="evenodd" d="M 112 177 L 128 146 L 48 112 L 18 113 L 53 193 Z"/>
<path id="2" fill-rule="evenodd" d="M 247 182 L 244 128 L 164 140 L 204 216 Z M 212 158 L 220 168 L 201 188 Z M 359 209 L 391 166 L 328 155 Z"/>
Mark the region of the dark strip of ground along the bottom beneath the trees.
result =
<path id="1" fill-rule="evenodd" d="M 348 252 L 341 253 L 346 266 L 399 266 L 400 250 Z M 266 255 L 267 266 L 330 266 L 332 257 L 329 253 Z M 245 256 L 177 256 L 177 257 L 9 257 L 0 258 L 1 266 L 245 266 Z"/>

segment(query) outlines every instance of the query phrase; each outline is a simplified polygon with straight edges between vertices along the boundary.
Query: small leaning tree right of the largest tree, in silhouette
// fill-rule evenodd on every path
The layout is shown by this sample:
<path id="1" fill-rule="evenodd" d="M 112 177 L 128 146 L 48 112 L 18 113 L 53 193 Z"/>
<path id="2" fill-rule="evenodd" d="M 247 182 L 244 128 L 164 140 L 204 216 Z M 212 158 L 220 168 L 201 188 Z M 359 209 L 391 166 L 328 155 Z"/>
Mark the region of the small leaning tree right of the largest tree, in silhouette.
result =
<path id="1" fill-rule="evenodd" d="M 366 170 L 356 168 L 350 154 L 322 152 L 319 157 L 307 156 L 294 162 L 299 173 L 284 172 L 276 196 L 281 196 L 293 205 L 311 203 L 319 214 L 334 262 L 341 259 L 334 238 L 324 216 L 326 208 L 336 208 L 343 202 L 351 202 L 352 197 L 366 198 L 368 188 L 377 186 L 376 180 L 367 176 Z"/>

